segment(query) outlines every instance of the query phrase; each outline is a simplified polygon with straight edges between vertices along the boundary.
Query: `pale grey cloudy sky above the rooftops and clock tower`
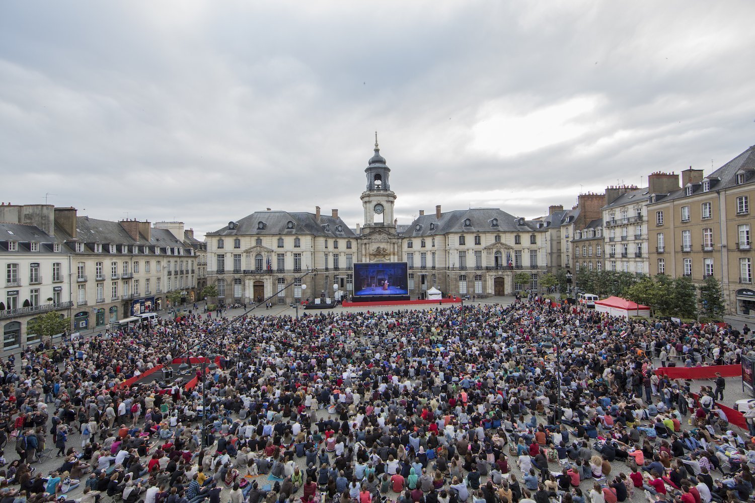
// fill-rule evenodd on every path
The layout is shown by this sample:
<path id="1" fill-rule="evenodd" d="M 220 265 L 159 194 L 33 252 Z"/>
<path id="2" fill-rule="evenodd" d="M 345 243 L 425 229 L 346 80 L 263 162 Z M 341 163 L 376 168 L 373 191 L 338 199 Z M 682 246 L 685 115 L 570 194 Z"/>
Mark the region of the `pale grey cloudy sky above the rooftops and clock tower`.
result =
<path id="1" fill-rule="evenodd" d="M 535 217 L 755 143 L 755 2 L 2 2 L 0 200 Z"/>

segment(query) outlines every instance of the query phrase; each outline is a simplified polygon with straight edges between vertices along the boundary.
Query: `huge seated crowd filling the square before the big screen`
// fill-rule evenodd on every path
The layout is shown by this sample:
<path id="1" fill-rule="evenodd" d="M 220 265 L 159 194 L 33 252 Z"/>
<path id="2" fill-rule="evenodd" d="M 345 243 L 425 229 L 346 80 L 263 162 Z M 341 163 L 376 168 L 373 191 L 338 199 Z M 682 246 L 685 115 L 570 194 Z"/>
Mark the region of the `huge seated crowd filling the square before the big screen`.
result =
<path id="1" fill-rule="evenodd" d="M 726 381 L 654 372 L 743 354 L 731 327 L 535 299 L 145 321 L 2 362 L 0 503 L 747 501 Z M 175 357 L 218 364 L 128 385 Z"/>

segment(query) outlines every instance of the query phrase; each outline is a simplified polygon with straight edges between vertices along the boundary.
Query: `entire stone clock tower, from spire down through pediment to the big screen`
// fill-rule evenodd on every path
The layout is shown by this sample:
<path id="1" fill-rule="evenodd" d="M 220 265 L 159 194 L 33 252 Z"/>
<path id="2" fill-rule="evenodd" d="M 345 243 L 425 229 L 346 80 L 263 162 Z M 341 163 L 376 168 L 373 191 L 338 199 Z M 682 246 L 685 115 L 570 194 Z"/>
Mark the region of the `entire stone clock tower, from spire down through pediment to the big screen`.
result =
<path id="1" fill-rule="evenodd" d="M 362 235 L 359 240 L 360 262 L 398 262 L 401 256 L 401 238 L 396 235 L 393 205 L 396 194 L 390 190 L 390 168 L 380 155 L 375 132 L 374 155 L 365 168 L 367 189 L 362 192 L 365 211 Z"/>

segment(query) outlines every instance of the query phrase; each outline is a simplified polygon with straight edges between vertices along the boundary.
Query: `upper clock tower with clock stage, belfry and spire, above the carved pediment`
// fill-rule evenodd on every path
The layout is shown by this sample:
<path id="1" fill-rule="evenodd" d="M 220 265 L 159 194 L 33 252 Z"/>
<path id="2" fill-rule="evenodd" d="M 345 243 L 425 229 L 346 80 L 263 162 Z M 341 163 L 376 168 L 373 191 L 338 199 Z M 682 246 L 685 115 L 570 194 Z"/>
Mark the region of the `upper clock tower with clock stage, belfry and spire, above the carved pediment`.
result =
<path id="1" fill-rule="evenodd" d="M 393 204 L 396 194 L 390 190 L 390 167 L 385 158 L 380 155 L 377 145 L 377 131 L 375 131 L 374 154 L 367 161 L 365 168 L 367 175 L 367 189 L 362 192 L 362 207 L 365 212 L 365 232 L 369 228 L 384 228 L 388 232 L 396 232 L 393 223 Z"/>

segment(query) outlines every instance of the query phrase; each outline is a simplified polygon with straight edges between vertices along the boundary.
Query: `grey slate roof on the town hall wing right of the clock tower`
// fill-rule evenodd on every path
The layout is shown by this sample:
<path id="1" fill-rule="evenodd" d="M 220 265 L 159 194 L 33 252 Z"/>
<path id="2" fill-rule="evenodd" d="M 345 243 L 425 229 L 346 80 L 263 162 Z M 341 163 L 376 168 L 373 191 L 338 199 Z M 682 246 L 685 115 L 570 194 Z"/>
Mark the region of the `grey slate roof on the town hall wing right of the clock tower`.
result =
<path id="1" fill-rule="evenodd" d="M 470 225 L 464 225 L 466 219 Z M 498 219 L 498 226 L 493 220 Z M 404 233 L 405 238 L 443 235 L 450 232 L 537 232 L 539 220 L 525 220 L 506 213 L 498 208 L 470 208 L 441 213 L 440 219 L 435 213 L 418 216 Z M 420 226 L 419 228 L 417 226 Z"/>

